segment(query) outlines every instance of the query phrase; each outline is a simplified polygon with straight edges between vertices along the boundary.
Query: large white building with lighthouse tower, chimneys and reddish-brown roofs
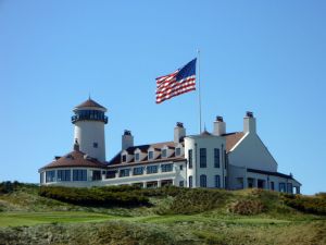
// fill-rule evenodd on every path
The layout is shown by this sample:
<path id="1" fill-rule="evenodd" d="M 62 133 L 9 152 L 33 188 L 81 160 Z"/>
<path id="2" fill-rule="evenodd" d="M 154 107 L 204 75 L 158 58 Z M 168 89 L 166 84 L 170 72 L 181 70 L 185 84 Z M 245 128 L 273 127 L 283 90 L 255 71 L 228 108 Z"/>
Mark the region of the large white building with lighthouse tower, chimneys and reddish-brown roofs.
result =
<path id="1" fill-rule="evenodd" d="M 187 135 L 183 123 L 177 123 L 173 142 L 134 146 L 134 136 L 125 131 L 121 151 L 109 162 L 105 112 L 91 99 L 74 109 L 74 150 L 39 170 L 42 185 L 258 187 L 300 193 L 301 184 L 291 174 L 277 172 L 277 162 L 256 134 L 252 112 L 243 119 L 243 131 L 236 133 L 226 133 L 222 117 L 216 118 L 213 133 L 199 135 Z"/>

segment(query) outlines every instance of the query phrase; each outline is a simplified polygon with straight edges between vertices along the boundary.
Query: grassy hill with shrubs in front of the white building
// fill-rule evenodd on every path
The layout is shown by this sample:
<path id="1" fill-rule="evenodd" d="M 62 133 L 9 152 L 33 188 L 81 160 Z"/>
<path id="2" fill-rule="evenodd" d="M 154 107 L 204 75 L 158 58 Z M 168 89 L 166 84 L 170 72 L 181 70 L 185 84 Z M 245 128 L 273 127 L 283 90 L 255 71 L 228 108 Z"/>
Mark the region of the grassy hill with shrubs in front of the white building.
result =
<path id="1" fill-rule="evenodd" d="M 0 185 L 0 244 L 326 244 L 325 194 L 71 191 Z"/>

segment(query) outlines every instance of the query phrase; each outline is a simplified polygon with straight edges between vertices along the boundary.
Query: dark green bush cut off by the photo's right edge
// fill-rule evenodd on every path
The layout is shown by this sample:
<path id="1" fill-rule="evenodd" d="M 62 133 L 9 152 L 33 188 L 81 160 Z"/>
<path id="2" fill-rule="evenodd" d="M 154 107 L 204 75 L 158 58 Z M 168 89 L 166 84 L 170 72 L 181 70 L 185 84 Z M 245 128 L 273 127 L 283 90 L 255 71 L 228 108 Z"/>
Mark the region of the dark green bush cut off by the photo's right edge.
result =
<path id="1" fill-rule="evenodd" d="M 283 197 L 287 206 L 299 211 L 324 216 L 326 215 L 326 198 L 321 195 L 301 196 L 285 194 Z"/>

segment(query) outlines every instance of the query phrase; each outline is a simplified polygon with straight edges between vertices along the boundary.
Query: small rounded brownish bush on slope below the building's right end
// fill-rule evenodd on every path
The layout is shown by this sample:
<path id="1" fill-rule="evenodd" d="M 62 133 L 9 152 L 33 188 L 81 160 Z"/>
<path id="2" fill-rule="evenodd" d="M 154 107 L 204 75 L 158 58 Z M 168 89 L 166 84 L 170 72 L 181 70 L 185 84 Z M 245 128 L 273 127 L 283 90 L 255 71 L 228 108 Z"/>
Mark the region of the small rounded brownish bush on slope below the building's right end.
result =
<path id="1" fill-rule="evenodd" d="M 258 215 L 265 211 L 266 208 L 261 200 L 256 199 L 242 199 L 237 200 L 231 204 L 229 207 L 229 211 L 241 215 L 241 216 L 252 216 Z"/>

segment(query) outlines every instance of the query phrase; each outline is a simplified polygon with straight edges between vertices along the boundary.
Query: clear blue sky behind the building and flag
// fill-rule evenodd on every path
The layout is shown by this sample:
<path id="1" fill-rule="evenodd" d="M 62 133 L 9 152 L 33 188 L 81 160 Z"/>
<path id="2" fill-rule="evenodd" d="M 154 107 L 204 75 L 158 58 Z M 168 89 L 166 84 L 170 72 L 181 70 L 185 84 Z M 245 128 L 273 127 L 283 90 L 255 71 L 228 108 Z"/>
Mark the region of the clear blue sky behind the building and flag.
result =
<path id="1" fill-rule="evenodd" d="M 155 105 L 155 77 L 201 50 L 203 122 L 247 110 L 302 192 L 326 191 L 326 1 L 0 0 L 0 181 L 39 181 L 73 148 L 72 109 L 109 109 L 106 158 L 199 131 L 197 91 Z"/>

